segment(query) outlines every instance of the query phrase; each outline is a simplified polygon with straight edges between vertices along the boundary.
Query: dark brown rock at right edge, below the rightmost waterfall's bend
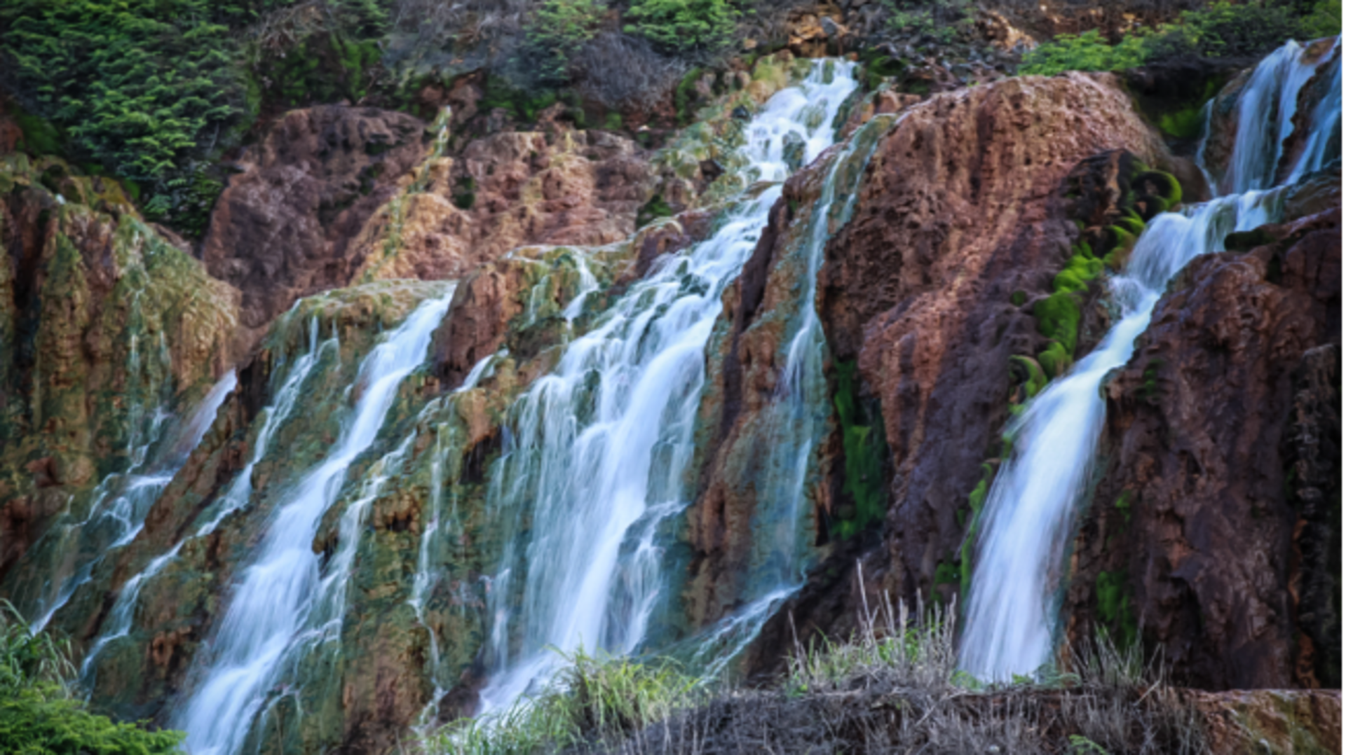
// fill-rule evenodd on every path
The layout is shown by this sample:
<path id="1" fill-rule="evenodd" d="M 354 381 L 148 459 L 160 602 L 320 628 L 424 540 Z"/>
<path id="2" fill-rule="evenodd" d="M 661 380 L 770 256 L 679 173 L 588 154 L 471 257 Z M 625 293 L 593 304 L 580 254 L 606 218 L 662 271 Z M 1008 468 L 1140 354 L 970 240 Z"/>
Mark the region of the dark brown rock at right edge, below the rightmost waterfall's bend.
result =
<path id="1" fill-rule="evenodd" d="M 1289 206 L 1320 205 L 1318 184 Z M 1346 682 L 1343 240 L 1339 199 L 1233 234 L 1242 250 L 1193 261 L 1158 304 L 1104 388 L 1073 637 L 1139 633 L 1206 689 Z"/>

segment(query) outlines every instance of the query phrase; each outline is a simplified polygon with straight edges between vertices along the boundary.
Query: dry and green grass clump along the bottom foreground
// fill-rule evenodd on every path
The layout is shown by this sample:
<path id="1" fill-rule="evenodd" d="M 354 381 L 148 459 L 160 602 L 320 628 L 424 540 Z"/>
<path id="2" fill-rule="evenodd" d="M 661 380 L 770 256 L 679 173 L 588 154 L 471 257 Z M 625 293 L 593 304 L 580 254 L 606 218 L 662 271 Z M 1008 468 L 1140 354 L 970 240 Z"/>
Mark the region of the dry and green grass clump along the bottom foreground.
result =
<path id="1" fill-rule="evenodd" d="M 861 579 L 863 584 L 863 579 Z M 711 689 L 672 662 L 567 658 L 544 694 L 441 732 L 454 755 L 622 752 L 1206 752 L 1158 657 L 1106 634 L 1061 666 L 988 684 L 958 669 L 956 604 L 867 602 L 844 641 L 801 642 L 763 689 Z"/>

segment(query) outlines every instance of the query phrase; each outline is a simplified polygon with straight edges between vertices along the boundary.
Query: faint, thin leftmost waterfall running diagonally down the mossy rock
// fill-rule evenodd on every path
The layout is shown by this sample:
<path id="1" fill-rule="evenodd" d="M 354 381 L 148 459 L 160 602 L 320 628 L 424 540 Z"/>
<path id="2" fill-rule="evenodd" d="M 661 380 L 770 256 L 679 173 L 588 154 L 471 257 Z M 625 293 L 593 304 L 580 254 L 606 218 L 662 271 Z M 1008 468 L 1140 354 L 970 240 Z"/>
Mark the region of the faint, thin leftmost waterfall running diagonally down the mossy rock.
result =
<path id="1" fill-rule="evenodd" d="M 167 354 L 167 347 L 162 351 Z M 139 369 L 139 351 L 132 336 L 129 370 Z M 172 415 L 159 408 L 149 420 L 148 437 L 137 433 L 141 423 L 136 421 L 140 409 L 132 408 L 131 459 L 132 466 L 122 474 L 112 474 L 98 483 L 93 494 L 93 505 L 83 521 L 65 525 L 52 533 L 58 537 L 57 548 L 70 548 L 75 557 L 92 556 L 65 579 L 48 581 L 54 592 L 39 598 L 32 631 L 42 631 L 51 618 L 74 596 L 79 585 L 89 581 L 93 569 L 106 559 L 108 553 L 131 542 L 145 524 L 145 514 L 159 499 L 159 494 L 172 482 L 178 470 L 201 444 L 210 424 L 215 421 L 225 398 L 238 384 L 233 370 L 225 373 L 206 393 L 187 421 L 172 433 L 166 432 Z M 167 437 L 164 437 L 167 435 Z M 153 451 L 153 454 L 151 454 Z"/>

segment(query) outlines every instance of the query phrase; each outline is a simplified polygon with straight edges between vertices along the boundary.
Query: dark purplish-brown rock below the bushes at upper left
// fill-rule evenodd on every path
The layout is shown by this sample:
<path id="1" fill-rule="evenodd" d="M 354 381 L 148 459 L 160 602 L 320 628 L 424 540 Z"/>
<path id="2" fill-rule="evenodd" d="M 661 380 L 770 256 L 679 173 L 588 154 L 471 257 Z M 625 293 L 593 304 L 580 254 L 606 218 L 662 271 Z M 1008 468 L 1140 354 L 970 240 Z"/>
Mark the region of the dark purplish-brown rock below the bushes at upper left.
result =
<path id="1" fill-rule="evenodd" d="M 412 116 L 330 105 L 285 113 L 244 152 L 201 249 L 210 273 L 244 292 L 244 327 L 354 280 L 363 252 L 351 240 L 427 141 Z"/>

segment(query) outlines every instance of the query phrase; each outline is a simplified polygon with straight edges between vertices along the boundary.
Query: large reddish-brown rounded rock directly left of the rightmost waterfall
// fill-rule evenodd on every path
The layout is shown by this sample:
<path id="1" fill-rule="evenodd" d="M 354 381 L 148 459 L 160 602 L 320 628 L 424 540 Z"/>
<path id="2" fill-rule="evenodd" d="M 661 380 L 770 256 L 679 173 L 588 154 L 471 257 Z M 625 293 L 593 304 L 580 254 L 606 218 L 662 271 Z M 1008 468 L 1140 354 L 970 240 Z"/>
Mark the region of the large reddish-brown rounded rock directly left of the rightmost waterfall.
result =
<path id="1" fill-rule="evenodd" d="M 817 304 L 832 358 L 857 366 L 890 450 L 886 559 L 870 573 L 894 594 L 957 589 L 969 494 L 995 466 L 1018 390 L 1011 358 L 1049 343 L 1035 314 L 1082 241 L 1074 221 L 1124 209 L 1104 192 L 1088 218 L 1066 179 L 1120 148 L 1164 157 L 1110 77 L 938 96 L 879 144 L 853 219 L 828 244 Z M 1100 187 L 1116 182 L 1116 160 L 1098 170 L 1113 176 Z"/>

